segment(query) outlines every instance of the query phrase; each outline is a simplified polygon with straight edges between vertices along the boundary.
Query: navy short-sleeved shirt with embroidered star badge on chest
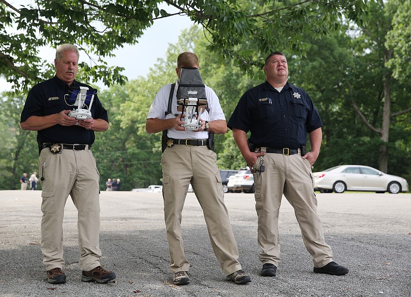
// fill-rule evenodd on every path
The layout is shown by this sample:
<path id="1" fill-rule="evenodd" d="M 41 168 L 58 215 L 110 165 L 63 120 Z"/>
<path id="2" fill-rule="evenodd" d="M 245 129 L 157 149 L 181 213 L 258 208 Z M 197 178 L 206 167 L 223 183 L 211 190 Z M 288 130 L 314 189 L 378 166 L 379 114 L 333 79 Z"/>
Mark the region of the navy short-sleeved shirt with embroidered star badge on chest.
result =
<path id="1" fill-rule="evenodd" d="M 227 125 L 250 131 L 256 147 L 298 149 L 323 123 L 306 91 L 287 83 L 278 92 L 266 81 L 242 95 Z"/>

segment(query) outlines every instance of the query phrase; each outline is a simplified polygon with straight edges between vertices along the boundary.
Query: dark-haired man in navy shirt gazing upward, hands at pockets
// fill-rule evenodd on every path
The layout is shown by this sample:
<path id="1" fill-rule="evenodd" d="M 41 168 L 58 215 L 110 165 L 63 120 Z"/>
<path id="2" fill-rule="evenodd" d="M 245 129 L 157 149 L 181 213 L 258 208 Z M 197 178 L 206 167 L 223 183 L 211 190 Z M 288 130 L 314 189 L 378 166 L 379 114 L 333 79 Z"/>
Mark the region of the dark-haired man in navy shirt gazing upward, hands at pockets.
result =
<path id="1" fill-rule="evenodd" d="M 271 53 L 264 71 L 267 81 L 245 92 L 228 122 L 253 170 L 261 275 L 275 276 L 279 264 L 278 213 L 283 194 L 294 208 L 314 272 L 346 274 L 348 269 L 332 260 L 316 212 L 311 169 L 320 153 L 323 123 L 308 94 L 287 82 L 283 53 Z M 306 153 L 307 133 L 311 151 Z"/>

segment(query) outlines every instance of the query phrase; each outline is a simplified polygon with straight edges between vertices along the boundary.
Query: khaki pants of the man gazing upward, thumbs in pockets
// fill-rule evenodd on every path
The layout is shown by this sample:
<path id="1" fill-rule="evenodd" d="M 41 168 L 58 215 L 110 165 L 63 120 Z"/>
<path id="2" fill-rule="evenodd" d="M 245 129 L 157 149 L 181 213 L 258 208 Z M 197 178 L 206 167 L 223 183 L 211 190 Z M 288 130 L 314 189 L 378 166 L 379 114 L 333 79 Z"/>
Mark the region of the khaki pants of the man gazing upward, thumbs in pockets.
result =
<path id="1" fill-rule="evenodd" d="M 257 164 L 260 161 L 257 160 Z M 262 250 L 260 261 L 278 267 L 280 244 L 278 214 L 284 196 L 294 208 L 304 245 L 312 255 L 314 267 L 323 267 L 332 261 L 331 248 L 324 241 L 313 176 L 308 160 L 300 155 L 264 155 L 265 172 L 254 173 L 255 209 L 258 215 L 258 244 Z"/>

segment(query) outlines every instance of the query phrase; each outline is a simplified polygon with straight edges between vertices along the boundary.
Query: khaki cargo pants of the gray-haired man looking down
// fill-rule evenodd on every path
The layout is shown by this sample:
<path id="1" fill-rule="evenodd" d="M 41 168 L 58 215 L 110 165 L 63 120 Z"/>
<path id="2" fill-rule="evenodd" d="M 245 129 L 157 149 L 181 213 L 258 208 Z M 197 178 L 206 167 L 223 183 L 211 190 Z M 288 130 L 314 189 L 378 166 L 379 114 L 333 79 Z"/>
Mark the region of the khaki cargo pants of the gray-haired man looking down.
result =
<path id="1" fill-rule="evenodd" d="M 63 268 L 63 216 L 68 195 L 78 210 L 80 269 L 89 271 L 100 265 L 100 202 L 96 161 L 91 151 L 63 150 L 53 154 L 41 151 L 42 253 L 46 270 Z"/>

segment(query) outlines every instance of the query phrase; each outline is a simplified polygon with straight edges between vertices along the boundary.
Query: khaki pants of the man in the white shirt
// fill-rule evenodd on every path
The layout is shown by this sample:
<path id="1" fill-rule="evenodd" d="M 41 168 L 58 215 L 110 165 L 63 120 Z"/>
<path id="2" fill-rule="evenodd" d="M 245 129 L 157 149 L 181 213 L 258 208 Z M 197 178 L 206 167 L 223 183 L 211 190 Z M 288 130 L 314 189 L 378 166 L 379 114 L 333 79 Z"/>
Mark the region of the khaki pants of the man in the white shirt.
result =
<path id="1" fill-rule="evenodd" d="M 215 162 L 216 154 L 207 146 L 174 145 L 167 147 L 162 155 L 164 219 L 173 273 L 189 271 L 190 267 L 181 234 L 181 212 L 190 181 L 221 269 L 226 275 L 241 269 Z"/>

